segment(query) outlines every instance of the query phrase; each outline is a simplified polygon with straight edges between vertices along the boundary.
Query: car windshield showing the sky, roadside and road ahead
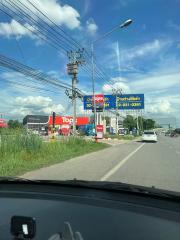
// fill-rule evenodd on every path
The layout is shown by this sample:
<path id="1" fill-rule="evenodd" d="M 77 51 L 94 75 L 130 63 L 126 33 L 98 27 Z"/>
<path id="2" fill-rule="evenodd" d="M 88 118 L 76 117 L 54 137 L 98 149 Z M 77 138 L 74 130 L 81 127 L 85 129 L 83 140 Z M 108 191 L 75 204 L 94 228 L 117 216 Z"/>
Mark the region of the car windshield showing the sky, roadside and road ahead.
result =
<path id="1" fill-rule="evenodd" d="M 179 9 L 0 1 L 0 176 L 179 192 Z"/>

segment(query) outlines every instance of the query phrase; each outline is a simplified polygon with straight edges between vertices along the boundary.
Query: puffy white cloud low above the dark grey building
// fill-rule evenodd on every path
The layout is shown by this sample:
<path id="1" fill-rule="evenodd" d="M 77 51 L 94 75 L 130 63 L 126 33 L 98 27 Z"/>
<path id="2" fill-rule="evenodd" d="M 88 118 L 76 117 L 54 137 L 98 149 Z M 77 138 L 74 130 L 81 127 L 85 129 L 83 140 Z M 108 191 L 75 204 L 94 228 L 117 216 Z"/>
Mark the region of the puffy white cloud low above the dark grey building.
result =
<path id="1" fill-rule="evenodd" d="M 15 105 L 19 105 L 11 111 L 12 114 L 25 116 L 27 114 L 51 114 L 55 111 L 58 114 L 64 112 L 64 107 L 61 104 L 53 103 L 50 97 L 28 96 L 16 97 Z"/>

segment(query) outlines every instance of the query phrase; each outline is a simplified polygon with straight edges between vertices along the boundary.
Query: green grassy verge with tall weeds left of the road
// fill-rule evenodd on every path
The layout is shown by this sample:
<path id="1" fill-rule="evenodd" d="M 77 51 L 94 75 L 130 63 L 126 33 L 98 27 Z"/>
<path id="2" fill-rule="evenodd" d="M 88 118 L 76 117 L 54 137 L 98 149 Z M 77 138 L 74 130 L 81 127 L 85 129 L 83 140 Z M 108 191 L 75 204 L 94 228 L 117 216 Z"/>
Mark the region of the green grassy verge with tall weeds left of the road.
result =
<path id="1" fill-rule="evenodd" d="M 15 176 L 108 147 L 107 144 L 68 138 L 45 143 L 22 131 L 0 133 L 0 176 Z"/>

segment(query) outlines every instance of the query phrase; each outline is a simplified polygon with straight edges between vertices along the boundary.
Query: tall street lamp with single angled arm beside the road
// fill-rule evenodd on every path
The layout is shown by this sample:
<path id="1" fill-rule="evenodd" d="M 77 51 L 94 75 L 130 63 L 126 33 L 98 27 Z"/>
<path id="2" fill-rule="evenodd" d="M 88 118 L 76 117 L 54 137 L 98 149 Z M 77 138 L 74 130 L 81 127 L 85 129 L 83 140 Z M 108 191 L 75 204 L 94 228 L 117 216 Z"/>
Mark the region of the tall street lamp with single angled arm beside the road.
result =
<path id="1" fill-rule="evenodd" d="M 93 90 L 93 109 L 94 109 L 94 126 L 95 126 L 95 137 L 96 137 L 96 125 L 97 125 L 97 119 L 96 119 L 96 101 L 95 101 L 95 76 L 94 76 L 94 44 L 99 42 L 100 40 L 104 39 L 105 37 L 109 36 L 114 31 L 118 30 L 119 28 L 124 28 L 129 26 L 132 23 L 131 19 L 126 20 L 122 24 L 114 27 L 109 32 L 105 33 L 98 39 L 94 40 L 91 43 L 91 64 L 92 64 L 92 90 Z"/>

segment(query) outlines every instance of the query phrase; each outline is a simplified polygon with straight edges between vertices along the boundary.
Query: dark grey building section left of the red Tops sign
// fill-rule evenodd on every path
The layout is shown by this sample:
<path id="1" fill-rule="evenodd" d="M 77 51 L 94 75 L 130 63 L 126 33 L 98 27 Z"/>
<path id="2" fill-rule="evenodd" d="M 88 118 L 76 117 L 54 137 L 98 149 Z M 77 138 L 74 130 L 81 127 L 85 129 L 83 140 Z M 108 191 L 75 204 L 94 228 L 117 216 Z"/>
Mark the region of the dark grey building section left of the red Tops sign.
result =
<path id="1" fill-rule="evenodd" d="M 23 125 L 27 130 L 42 132 L 48 129 L 49 116 L 27 115 L 23 119 Z"/>

